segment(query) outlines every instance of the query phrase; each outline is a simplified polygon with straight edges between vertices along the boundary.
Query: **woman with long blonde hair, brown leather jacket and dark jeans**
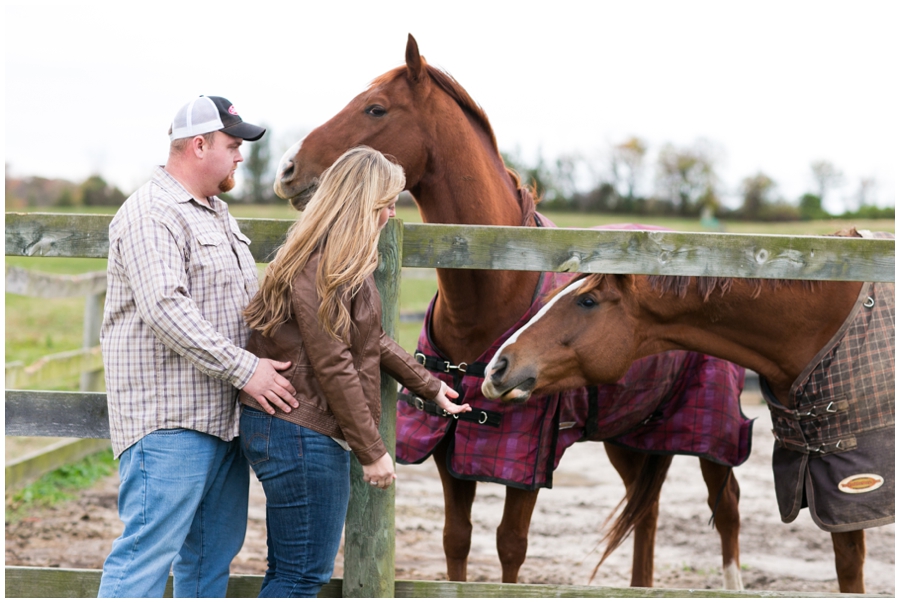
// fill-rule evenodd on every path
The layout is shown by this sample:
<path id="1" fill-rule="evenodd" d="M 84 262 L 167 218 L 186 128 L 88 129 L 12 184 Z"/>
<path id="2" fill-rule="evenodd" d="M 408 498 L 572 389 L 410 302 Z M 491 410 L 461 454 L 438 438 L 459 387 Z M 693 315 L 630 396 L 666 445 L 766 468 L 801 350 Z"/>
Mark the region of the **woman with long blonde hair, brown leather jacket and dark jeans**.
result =
<path id="1" fill-rule="evenodd" d="M 368 147 L 325 170 L 303 216 L 266 269 L 244 316 L 247 349 L 290 361 L 299 406 L 273 408 L 241 393 L 241 446 L 266 493 L 268 570 L 261 597 L 314 597 L 331 579 L 347 503 L 352 451 L 373 487 L 394 464 L 378 433 L 380 369 L 451 413 L 471 410 L 381 328 L 372 276 L 378 234 L 394 215 L 403 169 Z"/>

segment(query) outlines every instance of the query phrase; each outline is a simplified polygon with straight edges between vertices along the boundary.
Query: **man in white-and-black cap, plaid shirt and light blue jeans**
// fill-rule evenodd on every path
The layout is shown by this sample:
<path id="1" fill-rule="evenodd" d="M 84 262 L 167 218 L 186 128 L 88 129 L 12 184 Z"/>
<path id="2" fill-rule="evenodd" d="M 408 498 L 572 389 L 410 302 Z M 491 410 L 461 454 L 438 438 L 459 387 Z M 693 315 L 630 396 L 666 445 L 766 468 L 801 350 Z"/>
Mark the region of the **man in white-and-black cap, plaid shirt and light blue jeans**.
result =
<path id="1" fill-rule="evenodd" d="M 162 597 L 170 568 L 175 596 L 224 596 L 247 525 L 238 390 L 267 410 L 297 406 L 277 372 L 290 363 L 243 349 L 256 264 L 216 197 L 234 186 L 241 143 L 263 134 L 222 97 L 190 101 L 166 165 L 110 224 L 100 341 L 125 528 L 101 597 Z"/>

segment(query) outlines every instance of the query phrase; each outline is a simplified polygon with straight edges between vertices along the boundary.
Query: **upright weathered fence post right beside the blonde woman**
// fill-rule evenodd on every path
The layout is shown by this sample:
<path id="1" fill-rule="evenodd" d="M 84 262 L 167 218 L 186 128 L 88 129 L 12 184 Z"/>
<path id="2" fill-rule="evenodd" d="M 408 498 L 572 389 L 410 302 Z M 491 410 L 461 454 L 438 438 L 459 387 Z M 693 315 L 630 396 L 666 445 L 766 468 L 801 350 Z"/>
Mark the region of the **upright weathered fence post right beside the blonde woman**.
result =
<path id="1" fill-rule="evenodd" d="M 375 283 L 381 294 L 385 332 L 394 336 L 400 318 L 400 260 L 403 223 L 390 220 L 378 243 L 381 261 Z M 379 431 L 391 457 L 397 441 L 397 382 L 381 374 Z M 380 490 L 362 479 L 362 466 L 351 457 L 350 507 L 344 527 L 344 597 L 394 596 L 394 488 Z"/>

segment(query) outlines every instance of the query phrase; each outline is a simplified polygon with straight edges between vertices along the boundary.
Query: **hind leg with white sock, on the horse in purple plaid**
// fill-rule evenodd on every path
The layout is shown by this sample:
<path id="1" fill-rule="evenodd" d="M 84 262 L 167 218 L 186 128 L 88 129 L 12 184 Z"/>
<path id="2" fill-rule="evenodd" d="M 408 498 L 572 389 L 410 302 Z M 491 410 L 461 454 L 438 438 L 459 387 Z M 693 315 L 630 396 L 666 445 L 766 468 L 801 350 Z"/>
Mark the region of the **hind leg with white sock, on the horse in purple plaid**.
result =
<path id="1" fill-rule="evenodd" d="M 741 549 L 738 543 L 741 531 L 741 513 L 738 510 L 741 488 L 731 467 L 701 458 L 700 471 L 709 493 L 706 502 L 713 512 L 716 530 L 722 540 L 722 577 L 725 589 L 744 590 L 741 580 Z"/>

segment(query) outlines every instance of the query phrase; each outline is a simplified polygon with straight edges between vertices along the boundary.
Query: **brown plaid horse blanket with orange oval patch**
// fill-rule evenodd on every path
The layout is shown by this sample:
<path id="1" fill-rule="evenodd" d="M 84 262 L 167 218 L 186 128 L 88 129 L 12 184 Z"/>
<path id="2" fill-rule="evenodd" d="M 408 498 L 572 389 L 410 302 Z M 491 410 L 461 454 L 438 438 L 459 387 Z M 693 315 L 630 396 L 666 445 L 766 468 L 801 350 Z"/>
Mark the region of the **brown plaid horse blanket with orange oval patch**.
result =
<path id="1" fill-rule="evenodd" d="M 785 523 L 809 507 L 823 530 L 894 522 L 894 285 L 864 283 L 834 338 L 774 399 L 775 493 Z"/>

